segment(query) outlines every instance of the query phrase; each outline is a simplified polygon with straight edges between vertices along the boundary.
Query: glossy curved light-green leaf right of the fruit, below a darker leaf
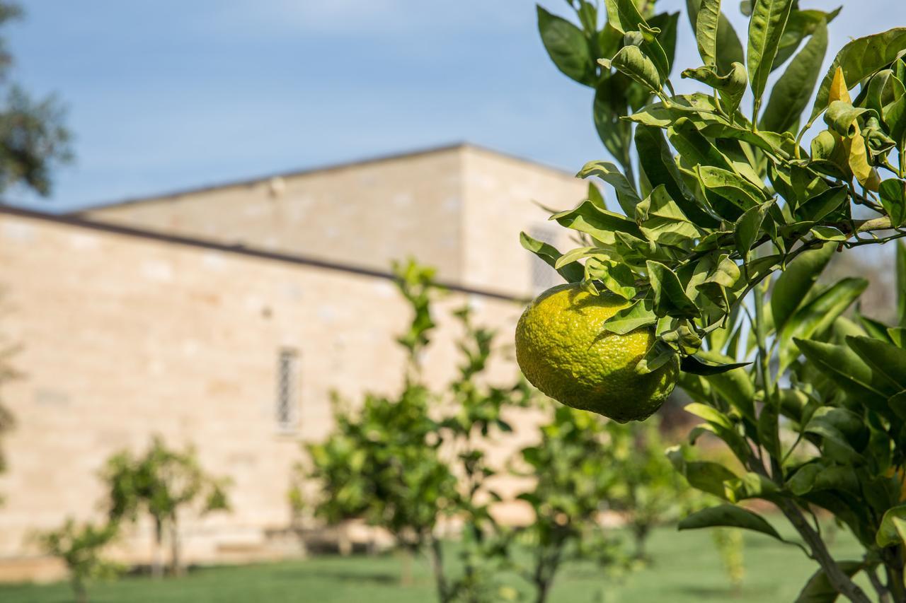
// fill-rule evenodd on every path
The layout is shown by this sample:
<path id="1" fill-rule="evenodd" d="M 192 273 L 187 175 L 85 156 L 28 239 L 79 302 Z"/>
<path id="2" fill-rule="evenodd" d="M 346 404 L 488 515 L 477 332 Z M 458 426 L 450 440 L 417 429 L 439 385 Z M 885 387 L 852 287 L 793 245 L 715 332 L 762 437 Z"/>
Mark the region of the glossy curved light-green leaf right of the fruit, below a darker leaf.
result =
<path id="1" fill-rule="evenodd" d="M 797 310 L 780 331 L 780 370 L 799 355 L 794 339 L 807 339 L 830 327 L 867 287 L 865 279 L 842 279 Z"/>

